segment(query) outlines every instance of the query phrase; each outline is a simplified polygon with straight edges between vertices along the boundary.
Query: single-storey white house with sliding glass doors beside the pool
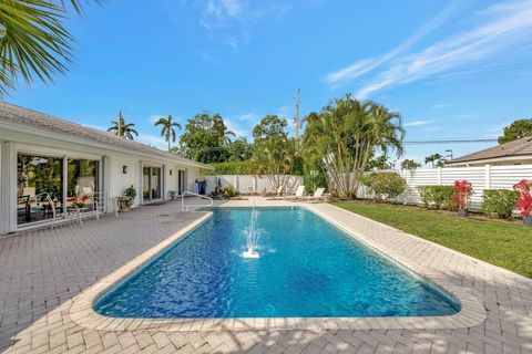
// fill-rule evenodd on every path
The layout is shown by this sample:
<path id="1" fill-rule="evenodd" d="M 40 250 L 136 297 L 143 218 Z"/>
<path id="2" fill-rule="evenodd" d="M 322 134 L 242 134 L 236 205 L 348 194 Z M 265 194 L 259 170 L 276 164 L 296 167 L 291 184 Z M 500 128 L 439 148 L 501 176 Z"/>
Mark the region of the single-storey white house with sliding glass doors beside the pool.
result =
<path id="1" fill-rule="evenodd" d="M 133 206 L 162 201 L 170 191 L 195 190 L 200 168 L 211 167 L 0 103 L 0 233 L 47 225 L 81 199 L 98 198 L 104 211 L 113 211 L 110 200 L 130 186 L 137 191 Z"/>

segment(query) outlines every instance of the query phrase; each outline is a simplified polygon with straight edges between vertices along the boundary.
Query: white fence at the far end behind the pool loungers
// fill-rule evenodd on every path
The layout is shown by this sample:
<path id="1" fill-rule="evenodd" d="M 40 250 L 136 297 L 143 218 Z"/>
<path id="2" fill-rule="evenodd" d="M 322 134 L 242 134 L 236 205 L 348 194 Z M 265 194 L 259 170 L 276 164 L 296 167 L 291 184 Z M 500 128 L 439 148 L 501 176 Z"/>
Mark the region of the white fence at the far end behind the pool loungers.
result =
<path id="1" fill-rule="evenodd" d="M 242 194 L 248 194 L 250 190 L 253 192 L 260 192 L 266 189 L 270 192 L 273 189 L 272 183 L 267 176 L 259 175 L 218 175 L 218 176 L 202 176 L 207 181 L 206 194 L 209 195 L 216 186 L 219 185 L 222 188 L 226 188 L 228 184 L 233 185 Z M 296 192 L 297 187 L 303 185 L 303 177 L 291 175 L 288 177 L 288 183 L 284 190 L 285 194 Z"/>

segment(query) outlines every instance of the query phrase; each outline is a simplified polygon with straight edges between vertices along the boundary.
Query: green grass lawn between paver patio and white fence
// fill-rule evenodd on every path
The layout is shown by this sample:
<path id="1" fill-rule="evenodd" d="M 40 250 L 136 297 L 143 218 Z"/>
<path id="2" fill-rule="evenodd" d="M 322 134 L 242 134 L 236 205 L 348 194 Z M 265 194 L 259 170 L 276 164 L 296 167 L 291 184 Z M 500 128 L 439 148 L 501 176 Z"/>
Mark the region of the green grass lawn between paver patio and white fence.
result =
<path id="1" fill-rule="evenodd" d="M 334 205 L 532 278 L 532 228 L 371 201 Z"/>

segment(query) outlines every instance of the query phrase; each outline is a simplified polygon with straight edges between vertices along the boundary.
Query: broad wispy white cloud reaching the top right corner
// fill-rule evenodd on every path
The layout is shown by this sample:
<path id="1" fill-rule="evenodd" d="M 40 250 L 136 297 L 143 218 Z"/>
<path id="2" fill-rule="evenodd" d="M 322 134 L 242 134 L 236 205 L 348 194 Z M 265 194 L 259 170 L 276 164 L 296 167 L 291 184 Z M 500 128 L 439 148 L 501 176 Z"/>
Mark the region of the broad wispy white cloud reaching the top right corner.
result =
<path id="1" fill-rule="evenodd" d="M 356 96 L 364 98 L 385 87 L 426 79 L 530 41 L 532 1 L 489 8 L 482 12 L 481 21 L 482 24 L 469 31 L 452 35 L 420 52 L 399 56 L 389 69 L 361 87 Z"/>

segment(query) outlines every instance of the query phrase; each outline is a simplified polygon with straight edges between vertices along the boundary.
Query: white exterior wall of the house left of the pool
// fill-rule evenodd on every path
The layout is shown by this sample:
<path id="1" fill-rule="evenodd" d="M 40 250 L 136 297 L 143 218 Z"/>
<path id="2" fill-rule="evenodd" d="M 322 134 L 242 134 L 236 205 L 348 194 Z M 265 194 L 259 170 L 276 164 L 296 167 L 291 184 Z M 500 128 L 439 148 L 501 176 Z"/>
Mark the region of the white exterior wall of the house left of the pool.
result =
<path id="1" fill-rule="evenodd" d="M 17 230 L 18 153 L 99 160 L 100 191 L 103 190 L 108 195 L 108 211 L 114 210 L 114 204 L 110 202 L 110 199 L 122 196 L 131 185 L 135 186 L 137 191 L 133 207 L 142 204 L 143 163 L 162 167 L 162 200 L 170 199 L 170 190 L 177 190 L 178 169 L 185 170 L 185 189 L 195 191 L 194 180 L 200 176 L 200 167 L 180 164 L 171 158 L 152 158 L 135 152 L 119 153 L 95 145 L 58 140 L 47 137 L 47 133 L 38 133 L 32 135 L 30 132 L 25 134 L 7 132 L 0 127 L 0 233 Z M 123 174 L 123 166 L 127 166 L 126 174 Z"/>

